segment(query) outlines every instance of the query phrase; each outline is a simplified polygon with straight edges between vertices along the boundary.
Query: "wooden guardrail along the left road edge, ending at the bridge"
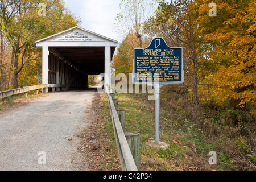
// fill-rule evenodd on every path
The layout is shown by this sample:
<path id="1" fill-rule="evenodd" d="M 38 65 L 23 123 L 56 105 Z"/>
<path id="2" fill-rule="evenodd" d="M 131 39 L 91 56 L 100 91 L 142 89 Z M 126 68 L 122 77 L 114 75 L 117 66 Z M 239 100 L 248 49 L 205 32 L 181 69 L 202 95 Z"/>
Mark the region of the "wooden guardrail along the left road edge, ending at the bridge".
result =
<path id="1" fill-rule="evenodd" d="M 14 96 L 16 94 L 23 93 L 24 95 L 27 96 L 27 93 L 32 91 L 32 90 L 34 90 L 35 94 L 38 94 L 39 89 L 42 89 L 42 92 L 46 93 L 46 88 L 47 87 L 48 87 L 47 84 L 43 84 L 43 85 L 26 86 L 26 87 L 19 88 L 19 89 L 7 90 L 7 91 L 4 91 L 4 92 L 0 92 L 0 99 L 7 97 L 9 102 L 11 102 L 11 101 L 13 101 Z"/>

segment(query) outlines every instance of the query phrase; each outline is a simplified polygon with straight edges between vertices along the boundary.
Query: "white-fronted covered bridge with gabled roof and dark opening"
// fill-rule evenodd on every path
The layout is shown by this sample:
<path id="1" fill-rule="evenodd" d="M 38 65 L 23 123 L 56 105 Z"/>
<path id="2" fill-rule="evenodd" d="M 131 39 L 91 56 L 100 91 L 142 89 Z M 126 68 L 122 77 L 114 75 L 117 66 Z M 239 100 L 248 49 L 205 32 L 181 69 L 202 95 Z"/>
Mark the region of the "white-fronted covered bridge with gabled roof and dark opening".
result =
<path id="1" fill-rule="evenodd" d="M 111 60 L 118 42 L 73 27 L 35 42 L 43 50 L 43 84 L 53 91 L 84 88 L 89 75 L 105 73 L 111 84 Z"/>

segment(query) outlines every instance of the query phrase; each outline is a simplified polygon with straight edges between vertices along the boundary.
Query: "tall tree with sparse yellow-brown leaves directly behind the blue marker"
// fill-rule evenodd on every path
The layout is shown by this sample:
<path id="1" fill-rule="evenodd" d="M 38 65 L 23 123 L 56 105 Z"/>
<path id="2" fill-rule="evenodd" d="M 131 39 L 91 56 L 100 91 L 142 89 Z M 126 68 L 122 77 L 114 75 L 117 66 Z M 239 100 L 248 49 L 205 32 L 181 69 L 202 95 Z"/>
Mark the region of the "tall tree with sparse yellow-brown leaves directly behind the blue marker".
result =
<path id="1" fill-rule="evenodd" d="M 147 22 L 147 32 L 164 38 L 170 47 L 183 48 L 184 93 L 187 98 L 187 92 L 192 91 L 194 109 L 189 108 L 197 124 L 200 124 L 202 110 L 199 84 L 200 79 L 205 75 L 204 68 L 207 62 L 204 57 L 204 39 L 199 34 L 195 15 L 191 13 L 192 2 L 189 0 L 160 2 L 156 16 Z"/>

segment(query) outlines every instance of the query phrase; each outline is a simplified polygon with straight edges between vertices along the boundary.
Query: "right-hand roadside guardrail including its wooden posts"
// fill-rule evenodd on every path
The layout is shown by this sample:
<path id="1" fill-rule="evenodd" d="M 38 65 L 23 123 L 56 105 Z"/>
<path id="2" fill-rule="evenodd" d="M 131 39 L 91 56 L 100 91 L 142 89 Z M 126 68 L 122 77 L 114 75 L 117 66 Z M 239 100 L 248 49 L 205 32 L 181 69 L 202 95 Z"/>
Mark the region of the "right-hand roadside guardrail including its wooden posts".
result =
<path id="1" fill-rule="evenodd" d="M 140 137 L 137 131 L 125 132 L 124 110 L 118 109 L 118 100 L 113 99 L 113 94 L 109 93 L 109 86 L 104 85 L 106 96 L 108 97 L 110 115 L 114 127 L 115 142 L 117 144 L 118 155 L 123 171 L 140 170 Z"/>

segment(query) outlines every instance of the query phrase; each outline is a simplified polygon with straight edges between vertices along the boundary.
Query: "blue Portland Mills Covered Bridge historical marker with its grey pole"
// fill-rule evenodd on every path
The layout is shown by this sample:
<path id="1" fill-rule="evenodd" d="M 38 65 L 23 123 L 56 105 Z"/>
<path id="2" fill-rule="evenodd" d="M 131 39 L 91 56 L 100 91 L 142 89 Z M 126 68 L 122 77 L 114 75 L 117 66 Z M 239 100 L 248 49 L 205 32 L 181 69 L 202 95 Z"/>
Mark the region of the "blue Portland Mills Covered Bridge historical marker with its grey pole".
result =
<path id="1" fill-rule="evenodd" d="M 155 143 L 159 143 L 160 90 L 167 84 L 184 82 L 182 48 L 168 47 L 155 38 L 147 48 L 134 49 L 133 83 L 155 88 Z"/>

